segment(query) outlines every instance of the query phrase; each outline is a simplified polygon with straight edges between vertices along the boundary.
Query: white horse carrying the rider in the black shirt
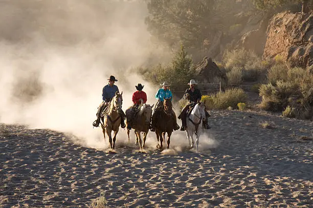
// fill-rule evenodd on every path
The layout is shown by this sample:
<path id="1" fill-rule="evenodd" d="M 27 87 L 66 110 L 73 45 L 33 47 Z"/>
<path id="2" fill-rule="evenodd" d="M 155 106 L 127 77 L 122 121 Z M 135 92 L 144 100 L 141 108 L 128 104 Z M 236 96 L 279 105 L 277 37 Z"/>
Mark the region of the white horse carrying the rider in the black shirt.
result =
<path id="1" fill-rule="evenodd" d="M 198 151 L 198 145 L 199 145 L 199 137 L 203 134 L 204 128 L 203 128 L 203 122 L 206 119 L 206 113 L 205 113 L 205 102 L 199 102 L 195 105 L 193 110 L 191 111 L 190 115 L 187 116 L 187 138 L 189 141 L 189 148 L 193 148 L 194 140 L 193 140 L 193 134 L 196 135 L 196 151 Z"/>

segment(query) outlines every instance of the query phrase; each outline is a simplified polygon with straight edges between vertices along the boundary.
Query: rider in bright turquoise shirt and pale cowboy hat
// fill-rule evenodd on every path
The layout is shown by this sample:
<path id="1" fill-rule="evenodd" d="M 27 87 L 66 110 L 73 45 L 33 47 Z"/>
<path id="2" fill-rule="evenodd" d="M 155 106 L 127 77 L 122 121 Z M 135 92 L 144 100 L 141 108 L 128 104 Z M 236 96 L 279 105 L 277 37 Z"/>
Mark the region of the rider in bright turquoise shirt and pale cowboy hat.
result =
<path id="1" fill-rule="evenodd" d="M 173 95 L 172 92 L 169 89 L 169 86 L 171 86 L 170 84 L 168 84 L 167 82 L 164 82 L 163 84 L 160 84 L 161 86 L 163 86 L 163 88 L 159 89 L 157 94 L 155 94 L 155 98 L 157 98 L 158 102 L 155 105 L 155 108 L 153 110 L 152 113 L 152 121 L 151 121 L 151 132 L 155 131 L 155 110 L 157 110 L 158 108 L 163 108 L 163 102 L 164 102 L 164 98 L 165 99 L 173 99 Z M 176 131 L 177 129 L 180 128 L 180 126 L 178 126 L 177 121 L 176 121 L 176 115 L 175 112 L 172 110 L 172 116 L 174 118 L 175 121 L 175 126 L 174 126 L 174 130 Z"/>

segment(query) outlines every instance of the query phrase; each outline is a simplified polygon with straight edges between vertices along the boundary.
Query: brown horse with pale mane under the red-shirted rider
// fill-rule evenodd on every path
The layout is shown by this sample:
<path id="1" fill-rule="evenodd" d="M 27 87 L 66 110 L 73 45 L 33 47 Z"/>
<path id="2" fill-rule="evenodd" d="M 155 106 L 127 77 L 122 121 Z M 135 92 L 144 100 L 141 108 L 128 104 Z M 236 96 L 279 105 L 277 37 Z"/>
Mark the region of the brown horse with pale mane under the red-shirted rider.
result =
<path id="1" fill-rule="evenodd" d="M 136 145 L 139 143 L 140 145 L 140 150 L 142 150 L 145 147 L 146 143 L 146 138 L 147 134 L 149 132 L 149 127 L 150 127 L 150 121 L 151 121 L 151 116 L 152 116 L 152 106 L 144 103 L 141 104 L 138 108 L 138 112 L 132 112 L 136 113 L 135 118 L 132 120 L 132 125 L 131 127 L 135 129 L 135 135 L 136 135 Z M 126 115 L 131 111 L 132 109 L 130 108 L 129 110 L 126 111 Z M 127 116 L 126 116 L 127 117 Z M 141 140 L 140 133 L 143 132 L 143 143 Z M 128 136 L 128 142 L 129 140 L 129 129 L 127 129 L 127 136 Z"/>

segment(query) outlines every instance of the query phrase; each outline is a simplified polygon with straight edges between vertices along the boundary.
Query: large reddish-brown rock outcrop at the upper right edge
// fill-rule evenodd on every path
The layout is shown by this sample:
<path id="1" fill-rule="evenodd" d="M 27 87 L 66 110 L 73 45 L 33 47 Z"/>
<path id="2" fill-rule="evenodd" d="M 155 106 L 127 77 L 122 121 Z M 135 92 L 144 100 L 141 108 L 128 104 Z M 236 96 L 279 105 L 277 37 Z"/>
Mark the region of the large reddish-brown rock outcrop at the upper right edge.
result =
<path id="1" fill-rule="evenodd" d="M 313 13 L 274 15 L 267 27 L 263 59 L 281 56 L 290 67 L 313 65 Z"/>

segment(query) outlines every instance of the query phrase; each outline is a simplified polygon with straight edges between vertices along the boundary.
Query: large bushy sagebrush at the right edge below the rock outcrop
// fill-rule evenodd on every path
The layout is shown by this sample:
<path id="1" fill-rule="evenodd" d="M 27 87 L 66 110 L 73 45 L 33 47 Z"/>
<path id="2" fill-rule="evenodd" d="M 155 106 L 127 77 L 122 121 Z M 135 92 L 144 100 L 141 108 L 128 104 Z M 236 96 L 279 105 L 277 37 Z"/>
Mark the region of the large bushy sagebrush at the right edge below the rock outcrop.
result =
<path id="1" fill-rule="evenodd" d="M 260 107 L 270 111 L 284 111 L 286 117 L 311 118 L 313 114 L 313 75 L 300 67 L 286 69 L 274 65 L 267 74 L 269 84 L 261 85 Z"/>

